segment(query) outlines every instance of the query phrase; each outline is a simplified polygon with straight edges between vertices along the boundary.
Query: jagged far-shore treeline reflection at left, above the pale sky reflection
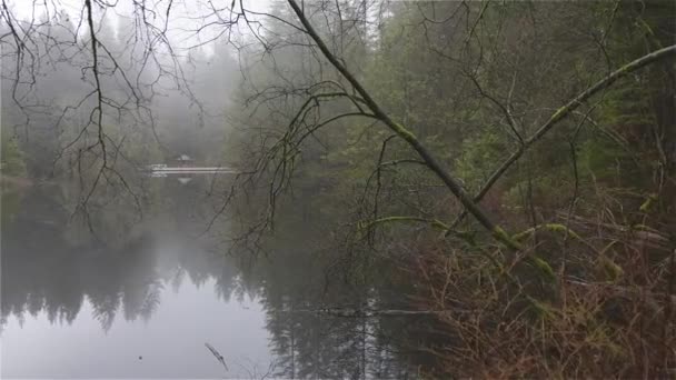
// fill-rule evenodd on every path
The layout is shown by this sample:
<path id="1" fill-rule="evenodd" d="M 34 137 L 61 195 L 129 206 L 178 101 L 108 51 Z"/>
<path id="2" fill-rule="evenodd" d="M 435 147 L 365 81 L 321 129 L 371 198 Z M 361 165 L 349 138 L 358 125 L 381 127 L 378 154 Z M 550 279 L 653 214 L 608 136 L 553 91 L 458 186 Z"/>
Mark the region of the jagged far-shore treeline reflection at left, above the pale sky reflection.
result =
<path id="1" fill-rule="evenodd" d="M 120 312 L 127 320 L 150 318 L 163 287 L 180 287 L 183 272 L 195 284 L 216 279 L 223 299 L 237 288 L 229 261 L 176 237 L 146 232 L 112 247 L 76 243 L 67 231 L 68 212 L 53 198 L 31 190 L 2 224 L 2 320 L 43 311 L 52 323 L 71 323 L 87 299 L 108 329 Z"/>

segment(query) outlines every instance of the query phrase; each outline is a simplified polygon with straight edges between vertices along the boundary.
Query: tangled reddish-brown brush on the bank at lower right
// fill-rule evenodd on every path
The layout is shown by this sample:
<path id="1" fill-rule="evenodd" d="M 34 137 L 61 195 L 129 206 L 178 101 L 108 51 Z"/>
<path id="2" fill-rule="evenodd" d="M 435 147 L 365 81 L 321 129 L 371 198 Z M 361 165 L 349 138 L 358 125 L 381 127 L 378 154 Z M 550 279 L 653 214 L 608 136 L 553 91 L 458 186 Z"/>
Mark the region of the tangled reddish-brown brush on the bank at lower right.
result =
<path id="1" fill-rule="evenodd" d="M 676 378 L 669 224 L 606 208 L 564 217 L 525 253 L 545 259 L 555 282 L 496 247 L 419 247 L 418 301 L 447 310 L 445 343 L 425 348 L 437 358 L 430 378 Z M 560 233 L 565 223 L 575 234 Z"/>

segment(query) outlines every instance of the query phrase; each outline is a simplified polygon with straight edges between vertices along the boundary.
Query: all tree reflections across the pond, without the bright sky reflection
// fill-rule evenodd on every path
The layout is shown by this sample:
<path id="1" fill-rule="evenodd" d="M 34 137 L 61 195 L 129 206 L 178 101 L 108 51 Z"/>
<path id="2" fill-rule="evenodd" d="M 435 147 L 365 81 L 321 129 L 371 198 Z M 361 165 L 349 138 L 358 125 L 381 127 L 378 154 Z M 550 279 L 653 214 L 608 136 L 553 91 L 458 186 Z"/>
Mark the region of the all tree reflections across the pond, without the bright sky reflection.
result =
<path id="1" fill-rule="evenodd" d="M 172 200 L 168 203 L 177 206 L 167 211 L 175 218 L 170 230 L 190 228 L 188 220 L 196 208 L 181 203 L 190 191 L 179 186 L 163 189 L 165 197 Z M 410 374 L 400 366 L 401 351 L 415 347 L 411 337 L 417 330 L 411 324 L 424 324 L 424 320 L 315 312 L 325 307 L 406 307 L 406 289 L 397 288 L 392 280 L 396 271 L 386 269 L 387 263 L 372 262 L 377 273 L 369 273 L 367 264 L 359 276 L 348 276 L 349 270 L 342 268 L 327 272 L 341 253 L 312 249 L 326 243 L 328 234 L 312 233 L 307 222 L 282 221 L 286 228 L 269 241 L 267 258 L 245 266 L 241 261 L 233 264 L 228 256 L 189 247 L 176 237 L 153 233 L 139 232 L 115 247 L 91 241 L 76 244 L 64 233 L 67 217 L 56 201 L 36 192 L 28 193 L 19 214 L 2 226 L 3 320 L 10 314 L 21 320 L 27 313 L 46 312 L 52 323 L 70 323 L 88 300 L 93 318 L 108 329 L 120 314 L 126 320 L 150 318 L 165 287 L 178 289 L 182 281 L 203 286 L 212 279 L 216 293 L 225 301 L 232 296 L 259 296 L 277 376 L 360 379 Z"/>

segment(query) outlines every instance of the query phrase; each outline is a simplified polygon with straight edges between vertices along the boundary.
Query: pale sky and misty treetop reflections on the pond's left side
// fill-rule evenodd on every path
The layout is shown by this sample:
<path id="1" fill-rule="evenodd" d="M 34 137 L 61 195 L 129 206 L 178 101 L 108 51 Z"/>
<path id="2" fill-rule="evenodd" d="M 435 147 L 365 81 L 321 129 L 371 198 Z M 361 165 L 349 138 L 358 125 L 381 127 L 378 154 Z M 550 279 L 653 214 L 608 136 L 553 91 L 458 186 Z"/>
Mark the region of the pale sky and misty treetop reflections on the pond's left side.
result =
<path id="1" fill-rule="evenodd" d="M 72 238 L 84 232 L 71 230 L 50 190 L 31 189 L 2 210 L 3 378 L 269 371 L 264 306 L 240 284 L 232 259 L 177 228 L 193 213 L 135 224 L 126 240 L 103 244 Z"/>

